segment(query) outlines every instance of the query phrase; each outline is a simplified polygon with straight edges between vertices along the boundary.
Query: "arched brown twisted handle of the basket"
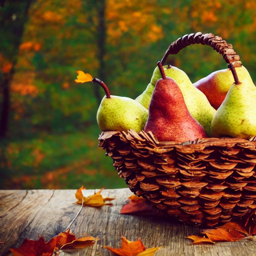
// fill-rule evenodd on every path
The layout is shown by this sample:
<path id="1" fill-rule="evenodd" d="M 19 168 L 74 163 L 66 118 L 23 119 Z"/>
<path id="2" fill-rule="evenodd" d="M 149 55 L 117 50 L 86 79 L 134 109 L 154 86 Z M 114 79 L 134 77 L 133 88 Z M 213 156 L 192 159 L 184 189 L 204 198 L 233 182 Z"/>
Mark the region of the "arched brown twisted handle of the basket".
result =
<path id="1" fill-rule="evenodd" d="M 183 48 L 191 44 L 203 44 L 211 46 L 215 51 L 223 56 L 223 59 L 226 61 L 226 63 L 229 64 L 228 67 L 242 66 L 240 57 L 234 51 L 232 44 L 227 44 L 227 42 L 221 37 L 215 36 L 212 33 L 201 32 L 184 35 L 183 37 L 180 37 L 171 43 L 161 60 L 161 64 L 164 65 L 164 62 L 166 61 L 169 54 L 177 54 Z"/>

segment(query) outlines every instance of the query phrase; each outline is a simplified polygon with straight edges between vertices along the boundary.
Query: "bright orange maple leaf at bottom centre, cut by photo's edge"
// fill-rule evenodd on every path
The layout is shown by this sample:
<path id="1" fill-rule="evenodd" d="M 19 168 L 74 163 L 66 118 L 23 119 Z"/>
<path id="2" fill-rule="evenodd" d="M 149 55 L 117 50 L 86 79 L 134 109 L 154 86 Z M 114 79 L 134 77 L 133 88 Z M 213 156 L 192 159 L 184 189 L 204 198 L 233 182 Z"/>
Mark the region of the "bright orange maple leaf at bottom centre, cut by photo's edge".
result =
<path id="1" fill-rule="evenodd" d="M 161 247 L 146 249 L 140 238 L 132 242 L 122 236 L 122 248 L 112 248 L 108 246 L 104 246 L 104 248 L 119 256 L 153 256 Z"/>

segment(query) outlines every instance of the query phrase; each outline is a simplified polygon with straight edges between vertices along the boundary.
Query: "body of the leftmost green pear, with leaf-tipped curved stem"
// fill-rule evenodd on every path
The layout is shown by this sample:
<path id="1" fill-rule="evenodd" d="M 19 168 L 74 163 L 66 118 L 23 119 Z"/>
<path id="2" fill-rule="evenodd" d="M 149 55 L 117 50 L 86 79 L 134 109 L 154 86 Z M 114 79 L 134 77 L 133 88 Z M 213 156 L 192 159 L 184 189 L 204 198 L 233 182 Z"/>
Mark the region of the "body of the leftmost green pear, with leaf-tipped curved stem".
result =
<path id="1" fill-rule="evenodd" d="M 110 98 L 104 96 L 97 112 L 97 122 L 102 131 L 133 129 L 139 133 L 144 129 L 147 118 L 148 110 L 139 102 L 114 95 Z"/>

